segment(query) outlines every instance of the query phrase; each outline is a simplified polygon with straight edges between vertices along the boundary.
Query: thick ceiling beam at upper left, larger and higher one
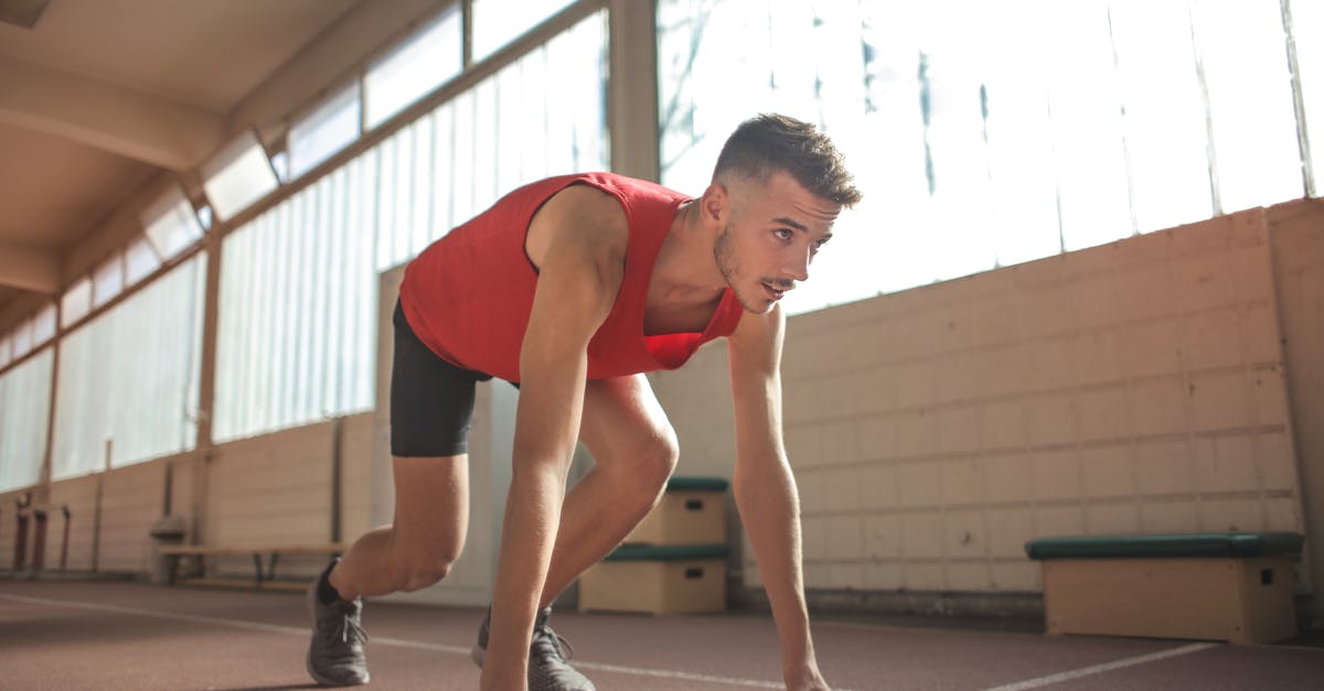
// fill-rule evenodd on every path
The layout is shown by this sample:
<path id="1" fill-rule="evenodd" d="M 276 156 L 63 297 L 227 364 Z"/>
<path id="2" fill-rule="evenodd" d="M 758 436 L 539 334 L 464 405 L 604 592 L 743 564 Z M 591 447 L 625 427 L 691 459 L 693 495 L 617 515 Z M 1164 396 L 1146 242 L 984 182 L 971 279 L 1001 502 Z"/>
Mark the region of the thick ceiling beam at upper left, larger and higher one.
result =
<path id="1" fill-rule="evenodd" d="M 225 119 L 207 110 L 0 56 L 0 122 L 184 171 L 212 154 Z"/>

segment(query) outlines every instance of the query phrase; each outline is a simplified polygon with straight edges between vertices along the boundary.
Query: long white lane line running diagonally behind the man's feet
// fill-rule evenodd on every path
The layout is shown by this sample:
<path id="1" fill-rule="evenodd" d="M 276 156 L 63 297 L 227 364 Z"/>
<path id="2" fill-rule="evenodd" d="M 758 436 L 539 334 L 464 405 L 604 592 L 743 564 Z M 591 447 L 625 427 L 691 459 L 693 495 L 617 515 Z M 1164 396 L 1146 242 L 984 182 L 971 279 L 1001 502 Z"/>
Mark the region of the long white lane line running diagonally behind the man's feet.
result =
<path id="1" fill-rule="evenodd" d="M 122 606 L 117 606 L 117 605 L 101 605 L 101 604 L 95 604 L 95 602 L 73 602 L 73 601 L 65 601 L 65 600 L 46 600 L 46 598 L 41 598 L 41 597 L 24 597 L 24 596 L 8 594 L 8 593 L 0 593 L 0 600 L 12 600 L 15 602 L 26 602 L 26 604 L 30 604 L 30 605 L 46 605 L 46 606 L 69 608 L 69 609 L 86 609 L 86 610 L 94 610 L 94 612 L 110 612 L 110 613 L 115 613 L 115 614 L 134 614 L 134 616 L 139 616 L 139 617 L 155 617 L 155 618 L 159 618 L 159 620 L 183 621 L 183 622 L 188 622 L 188 623 L 208 623 L 208 625 L 212 625 L 212 626 L 228 626 L 228 627 L 232 627 L 232 629 L 245 629 L 245 630 L 250 630 L 250 631 L 266 631 L 266 633 L 277 633 L 277 634 L 286 634 L 286 635 L 299 635 L 299 637 L 307 637 L 308 635 L 308 629 L 299 629 L 299 627 L 295 627 L 295 626 L 279 626 L 279 625 L 275 625 L 275 623 L 258 623 L 258 622 L 242 621 L 242 620 L 222 620 L 222 618 L 218 618 L 218 617 L 199 617 L 199 616 L 195 616 L 195 614 L 176 614 L 173 612 L 156 612 L 156 610 L 151 610 L 151 609 L 122 608 Z M 405 638 L 372 637 L 372 643 L 375 643 L 375 645 L 385 645 L 385 646 L 395 646 L 395 647 L 409 647 L 409 649 L 416 649 L 416 650 L 430 650 L 430 651 L 437 651 L 437 653 L 449 653 L 449 654 L 453 654 L 453 655 L 463 655 L 466 658 L 469 657 L 469 649 L 467 647 L 446 646 L 446 645 L 441 645 L 441 643 L 428 643 L 428 642 L 422 642 L 422 641 L 409 641 L 409 639 L 405 639 Z M 626 666 L 621 666 L 621 665 L 604 665 L 604 663 L 598 663 L 598 662 L 576 662 L 575 666 L 580 667 L 580 668 L 584 668 L 584 670 L 598 670 L 598 671 L 610 671 L 610 672 L 620 672 L 620 674 L 633 674 L 636 676 L 654 676 L 654 678 L 662 678 L 662 679 L 677 679 L 677 680 L 682 680 L 682 682 L 708 682 L 708 683 L 714 683 L 714 684 L 743 686 L 743 687 L 753 687 L 753 688 L 782 688 L 782 684 L 780 682 L 777 682 L 777 683 L 773 683 L 773 682 L 760 682 L 757 679 L 740 679 L 740 678 L 736 678 L 736 676 L 714 676 L 714 675 L 707 675 L 707 674 L 690 674 L 690 672 L 682 672 L 682 671 L 673 671 L 673 670 L 649 670 L 649 668 L 643 668 L 643 667 L 626 667 Z"/>

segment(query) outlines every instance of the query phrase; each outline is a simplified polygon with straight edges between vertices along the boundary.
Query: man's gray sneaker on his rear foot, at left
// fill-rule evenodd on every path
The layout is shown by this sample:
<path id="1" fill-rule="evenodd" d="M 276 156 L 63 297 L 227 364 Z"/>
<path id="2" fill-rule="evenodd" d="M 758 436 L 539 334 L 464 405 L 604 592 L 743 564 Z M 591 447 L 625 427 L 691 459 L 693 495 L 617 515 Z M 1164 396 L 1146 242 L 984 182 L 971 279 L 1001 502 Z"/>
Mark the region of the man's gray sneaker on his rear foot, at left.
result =
<path id="1" fill-rule="evenodd" d="M 312 641 L 308 643 L 307 667 L 312 679 L 322 686 L 368 683 L 368 659 L 363 653 L 368 634 L 359 625 L 363 598 L 323 605 L 314 582 L 308 588 L 308 610 L 312 613 Z"/>

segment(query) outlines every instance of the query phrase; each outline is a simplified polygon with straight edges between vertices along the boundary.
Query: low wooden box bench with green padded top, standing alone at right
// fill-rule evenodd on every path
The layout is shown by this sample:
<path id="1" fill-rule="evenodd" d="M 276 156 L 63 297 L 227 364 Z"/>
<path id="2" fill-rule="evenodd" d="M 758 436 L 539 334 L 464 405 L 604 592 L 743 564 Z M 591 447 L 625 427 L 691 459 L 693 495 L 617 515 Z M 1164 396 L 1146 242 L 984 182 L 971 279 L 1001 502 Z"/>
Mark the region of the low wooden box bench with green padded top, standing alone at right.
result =
<path id="1" fill-rule="evenodd" d="M 1294 532 L 1090 535 L 1025 545 L 1050 634 L 1267 643 L 1296 635 Z"/>

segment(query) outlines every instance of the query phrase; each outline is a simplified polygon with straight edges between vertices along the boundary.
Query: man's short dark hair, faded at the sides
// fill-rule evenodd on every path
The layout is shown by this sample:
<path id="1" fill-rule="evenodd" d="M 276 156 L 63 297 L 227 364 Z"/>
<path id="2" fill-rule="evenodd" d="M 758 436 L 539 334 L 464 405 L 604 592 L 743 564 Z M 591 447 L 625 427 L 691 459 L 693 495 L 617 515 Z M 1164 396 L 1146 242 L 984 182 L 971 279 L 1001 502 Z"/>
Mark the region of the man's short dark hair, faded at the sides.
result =
<path id="1" fill-rule="evenodd" d="M 842 207 L 863 197 L 828 135 L 808 122 L 768 113 L 736 127 L 718 155 L 712 179 L 736 173 L 767 181 L 776 171 L 790 173 L 813 195 Z"/>

